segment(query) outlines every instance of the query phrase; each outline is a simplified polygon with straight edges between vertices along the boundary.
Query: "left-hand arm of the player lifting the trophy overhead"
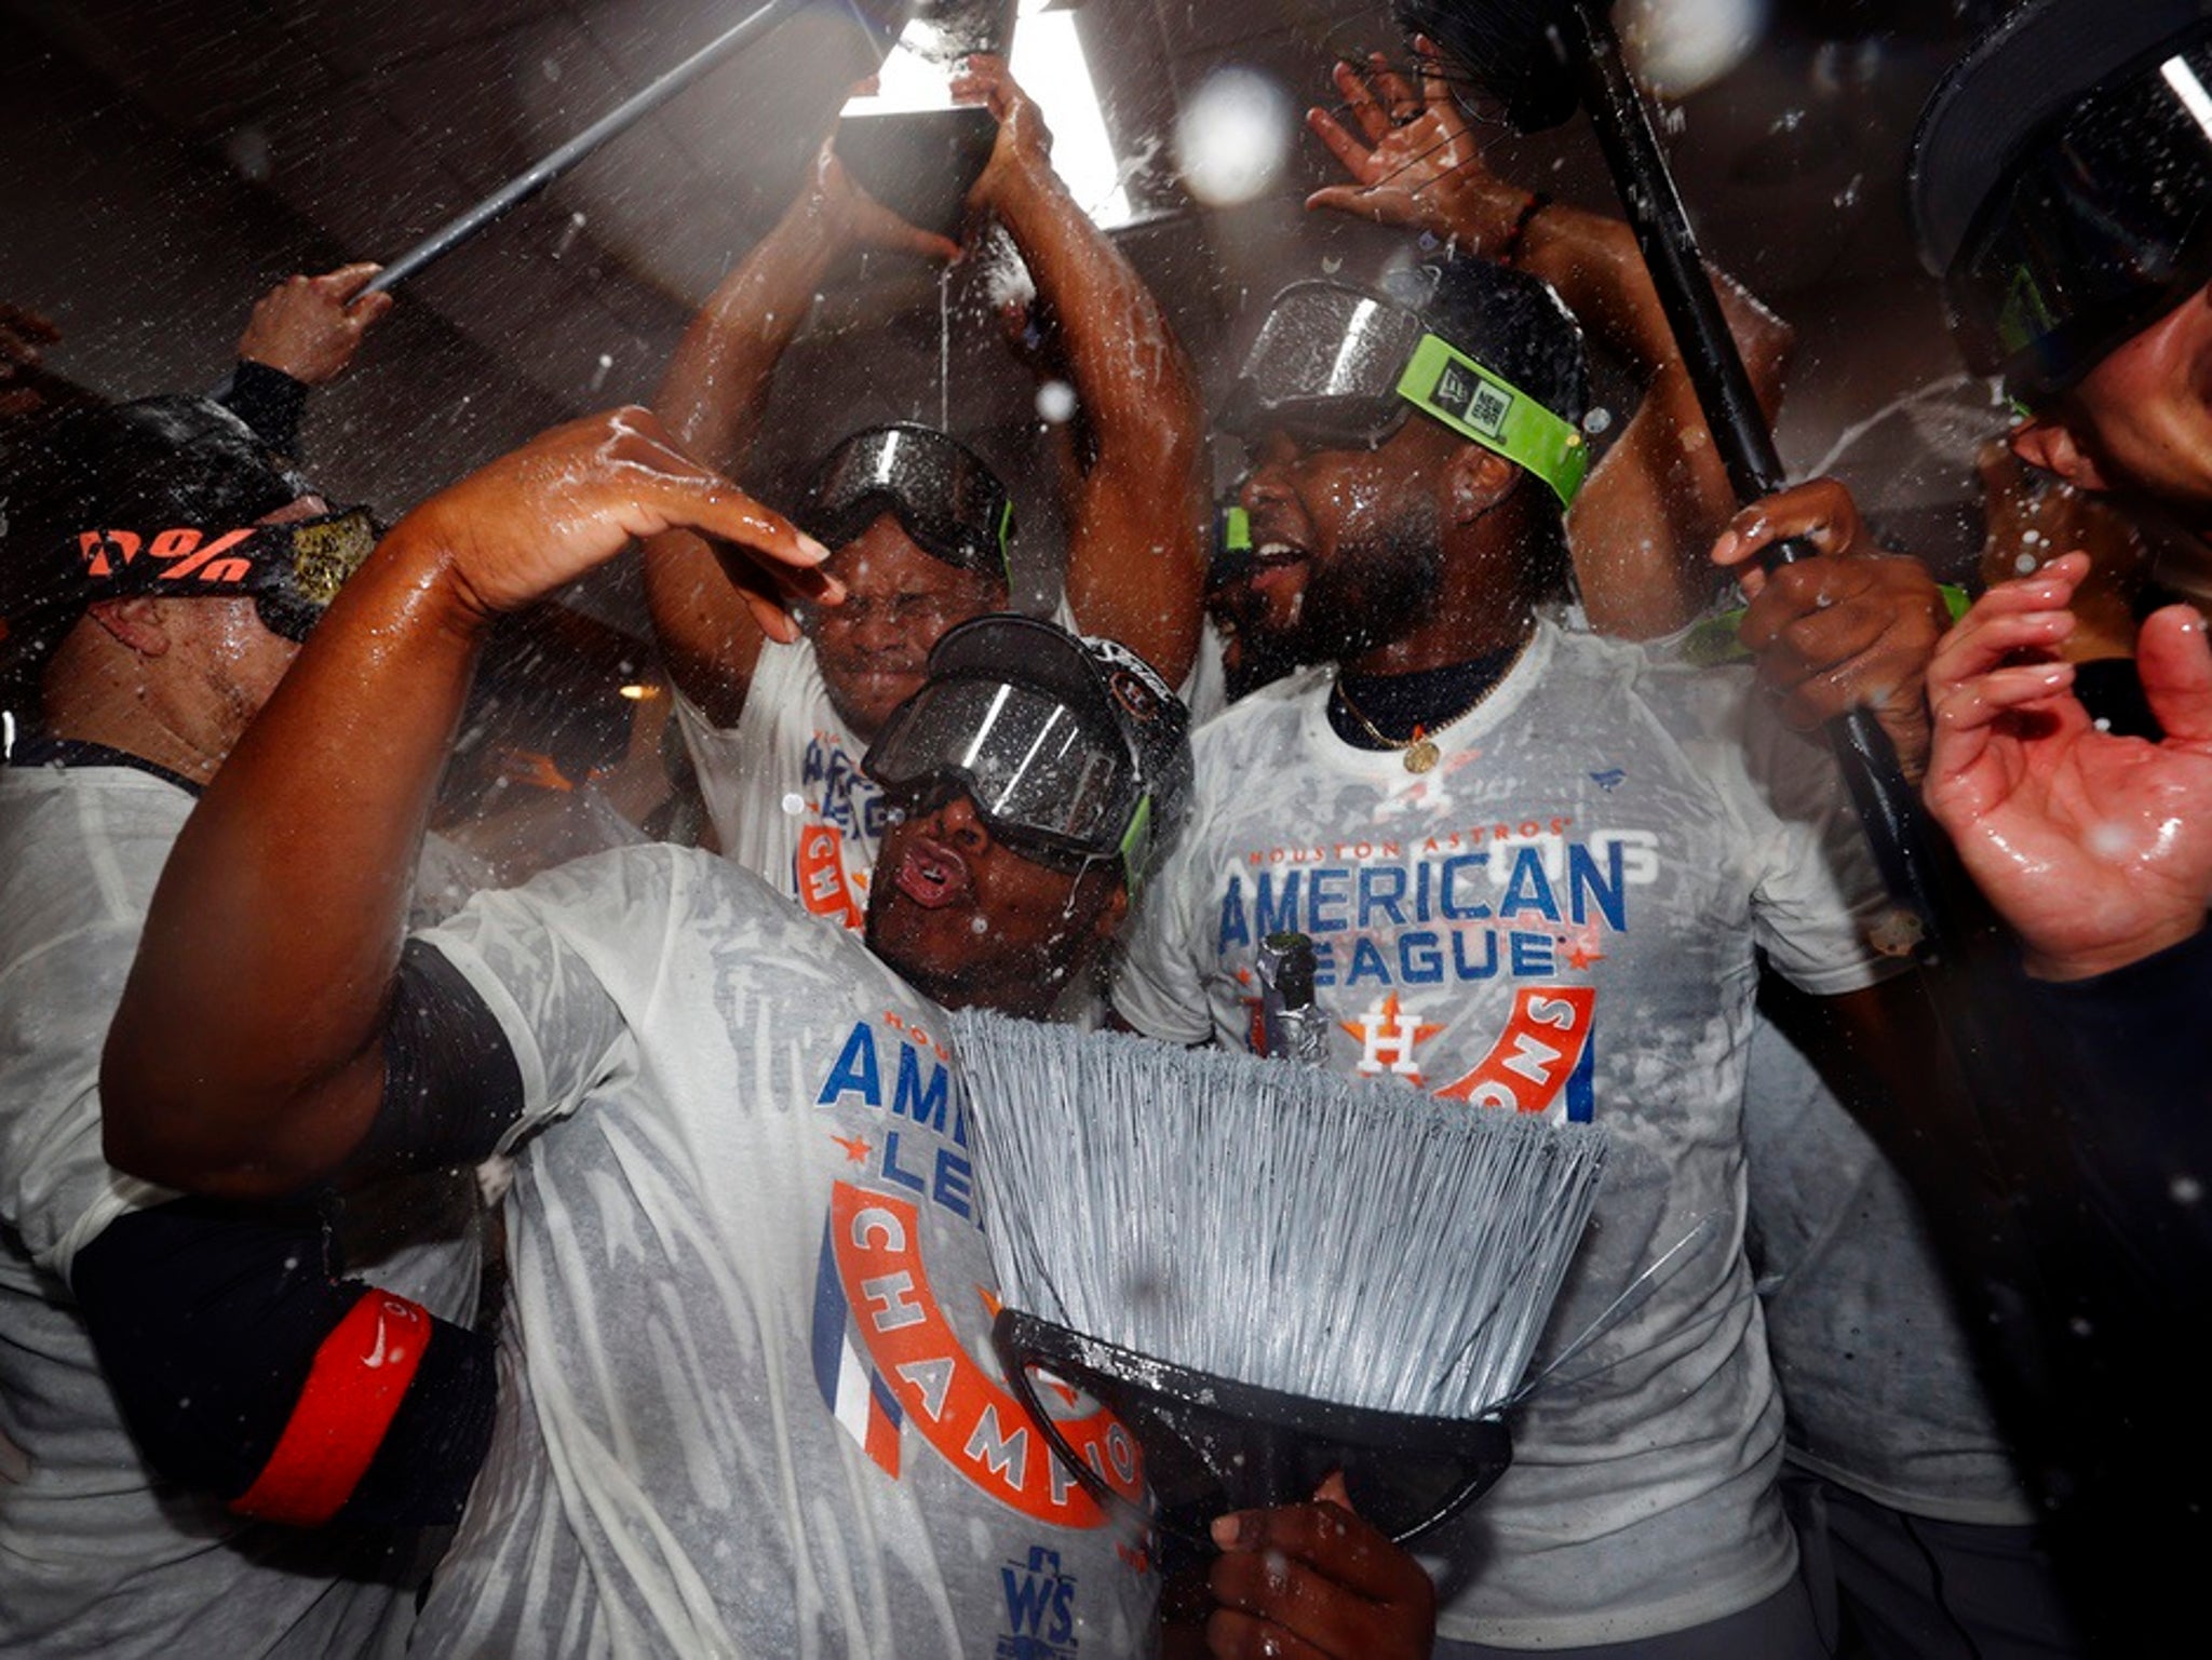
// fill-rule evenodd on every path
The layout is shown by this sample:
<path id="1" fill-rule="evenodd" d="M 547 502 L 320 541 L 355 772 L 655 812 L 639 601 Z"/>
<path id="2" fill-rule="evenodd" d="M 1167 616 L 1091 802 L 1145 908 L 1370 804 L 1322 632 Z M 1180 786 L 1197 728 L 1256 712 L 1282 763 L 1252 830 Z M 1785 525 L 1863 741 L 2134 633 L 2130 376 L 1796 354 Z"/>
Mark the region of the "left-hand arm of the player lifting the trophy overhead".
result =
<path id="1" fill-rule="evenodd" d="M 814 294 L 856 248 L 929 259 L 960 250 L 872 201 L 823 144 L 805 188 L 692 319 L 653 407 L 670 436 L 723 474 L 739 474 L 761 434 L 776 363 L 814 310 Z M 717 726 L 745 708 L 761 631 L 712 549 L 672 531 L 646 542 L 646 604 L 677 686 Z"/>

